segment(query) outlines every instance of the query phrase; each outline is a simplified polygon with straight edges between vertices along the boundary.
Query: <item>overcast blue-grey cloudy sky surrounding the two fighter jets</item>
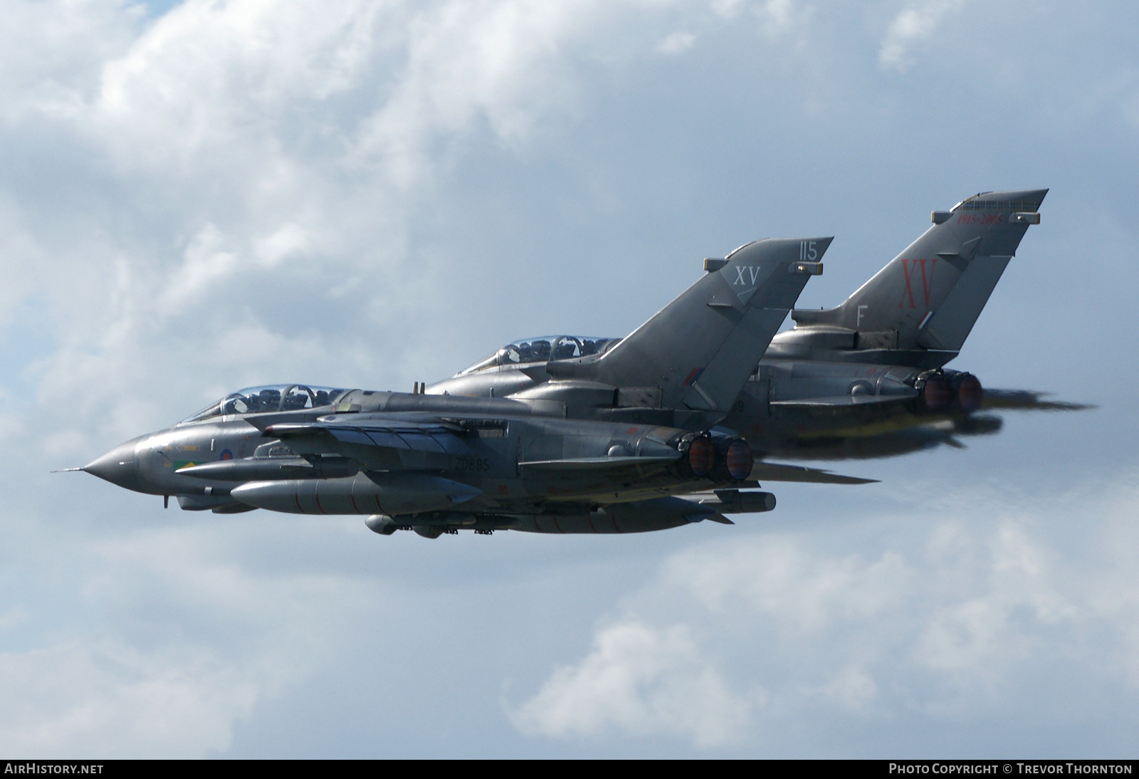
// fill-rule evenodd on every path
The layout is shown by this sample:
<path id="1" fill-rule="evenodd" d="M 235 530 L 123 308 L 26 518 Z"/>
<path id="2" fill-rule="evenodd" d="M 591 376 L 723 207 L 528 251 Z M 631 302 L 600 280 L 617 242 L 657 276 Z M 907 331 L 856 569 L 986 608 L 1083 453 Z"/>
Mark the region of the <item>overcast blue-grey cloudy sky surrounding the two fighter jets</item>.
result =
<path id="1" fill-rule="evenodd" d="M 1139 8 L 0 0 L 0 753 L 1134 756 Z M 1098 404 L 618 538 L 162 509 L 238 387 L 623 335 L 763 237 L 834 305 L 1049 187 L 952 367 Z"/>

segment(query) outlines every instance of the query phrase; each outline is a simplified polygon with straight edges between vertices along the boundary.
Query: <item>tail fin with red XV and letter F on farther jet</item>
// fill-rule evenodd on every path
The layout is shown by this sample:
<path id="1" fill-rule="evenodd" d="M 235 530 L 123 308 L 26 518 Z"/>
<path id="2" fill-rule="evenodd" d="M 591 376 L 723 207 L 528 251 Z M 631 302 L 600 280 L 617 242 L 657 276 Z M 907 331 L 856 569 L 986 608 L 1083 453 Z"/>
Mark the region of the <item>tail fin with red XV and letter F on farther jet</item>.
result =
<path id="1" fill-rule="evenodd" d="M 950 211 L 863 284 L 845 303 L 796 310 L 797 326 L 855 331 L 854 348 L 956 354 L 981 315 L 1030 224 L 1040 223 L 1047 189 L 983 192 Z"/>

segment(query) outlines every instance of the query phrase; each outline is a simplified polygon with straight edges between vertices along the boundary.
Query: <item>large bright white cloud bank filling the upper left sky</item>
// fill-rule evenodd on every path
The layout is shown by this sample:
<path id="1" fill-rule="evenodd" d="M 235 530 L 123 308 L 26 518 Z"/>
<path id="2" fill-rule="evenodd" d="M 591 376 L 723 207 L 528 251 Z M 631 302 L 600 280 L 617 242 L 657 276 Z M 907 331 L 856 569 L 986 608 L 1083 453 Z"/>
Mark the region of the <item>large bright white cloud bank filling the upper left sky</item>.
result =
<path id="1" fill-rule="evenodd" d="M 156 393 L 189 409 L 290 375 L 436 374 L 409 306 L 439 271 L 409 233 L 432 219 L 440 177 L 470 150 L 509 156 L 572 124 L 589 63 L 649 54 L 677 16 L 591 0 L 9 11 L 47 54 L 5 95 L 0 140 L 36 173 L 0 194 L 0 315 L 43 295 L 59 343 L 26 375 L 44 401 L 113 409 L 100 436 L 169 420 Z M 608 30 L 629 15 L 650 24 Z M 347 361 L 320 347 L 329 330 Z"/>

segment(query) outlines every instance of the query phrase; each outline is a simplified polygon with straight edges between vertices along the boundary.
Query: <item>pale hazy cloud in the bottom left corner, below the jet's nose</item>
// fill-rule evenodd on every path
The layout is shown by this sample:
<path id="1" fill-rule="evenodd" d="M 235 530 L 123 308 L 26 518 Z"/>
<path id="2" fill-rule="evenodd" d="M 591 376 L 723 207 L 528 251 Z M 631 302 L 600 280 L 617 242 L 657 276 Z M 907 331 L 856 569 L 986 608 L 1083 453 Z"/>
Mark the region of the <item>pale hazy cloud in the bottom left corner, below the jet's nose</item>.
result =
<path id="1" fill-rule="evenodd" d="M 320 667 L 370 587 L 254 573 L 200 528 L 106 540 L 71 571 L 114 631 L 66 630 L 0 653 L 0 748 L 28 756 L 199 757 L 233 725 Z M 58 548 L 56 552 L 58 554 Z M 374 593 L 371 593 L 374 597 Z M 0 631 L 26 617 L 9 613 Z"/>

